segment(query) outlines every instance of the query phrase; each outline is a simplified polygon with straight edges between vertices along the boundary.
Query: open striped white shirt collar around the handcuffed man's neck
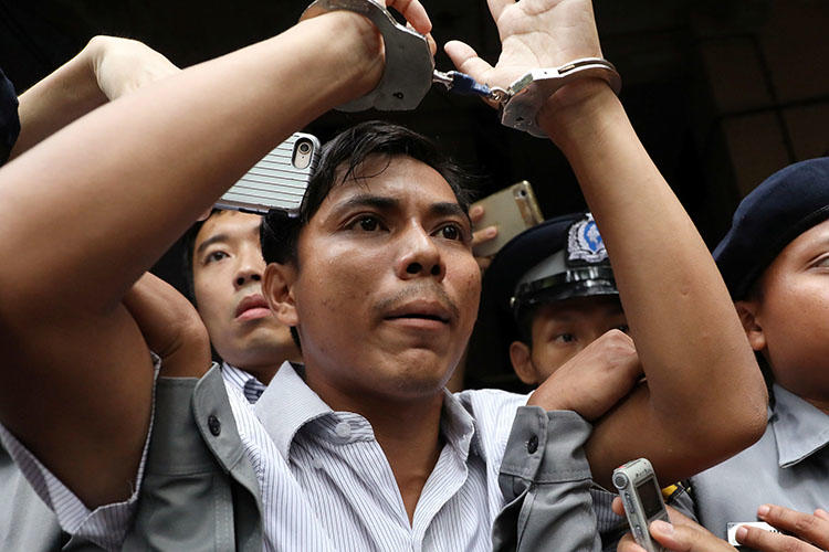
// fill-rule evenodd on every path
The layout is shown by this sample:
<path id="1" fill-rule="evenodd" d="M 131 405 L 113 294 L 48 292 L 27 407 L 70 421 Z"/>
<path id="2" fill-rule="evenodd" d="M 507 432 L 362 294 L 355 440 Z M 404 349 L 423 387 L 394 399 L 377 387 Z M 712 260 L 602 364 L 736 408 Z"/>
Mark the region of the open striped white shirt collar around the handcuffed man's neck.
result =
<path id="1" fill-rule="evenodd" d="M 450 392 L 443 392 L 441 432 L 447 443 L 466 461 L 470 450 L 483 456 L 472 415 Z M 256 417 L 282 457 L 287 459 L 296 434 L 308 423 L 326 416 L 354 420 L 356 414 L 336 413 L 317 395 L 294 368 L 285 362 L 254 406 Z M 361 417 L 361 416 L 360 416 Z M 365 418 L 363 418 L 365 420 Z M 336 422 L 336 421 L 333 421 Z M 335 423 L 325 424 L 336 427 Z M 368 423 L 366 422 L 366 425 Z M 361 432 L 364 436 L 370 431 Z"/>

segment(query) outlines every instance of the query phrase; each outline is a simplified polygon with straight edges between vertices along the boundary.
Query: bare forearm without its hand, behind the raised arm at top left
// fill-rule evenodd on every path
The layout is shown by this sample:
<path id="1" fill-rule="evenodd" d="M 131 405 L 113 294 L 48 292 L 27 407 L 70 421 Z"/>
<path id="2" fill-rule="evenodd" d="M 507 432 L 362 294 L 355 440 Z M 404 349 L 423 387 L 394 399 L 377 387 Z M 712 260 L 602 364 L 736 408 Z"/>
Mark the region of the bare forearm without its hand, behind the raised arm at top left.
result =
<path id="1" fill-rule="evenodd" d="M 20 136 L 10 159 L 107 102 L 93 68 L 104 39 L 93 39 L 76 56 L 20 97 Z"/>

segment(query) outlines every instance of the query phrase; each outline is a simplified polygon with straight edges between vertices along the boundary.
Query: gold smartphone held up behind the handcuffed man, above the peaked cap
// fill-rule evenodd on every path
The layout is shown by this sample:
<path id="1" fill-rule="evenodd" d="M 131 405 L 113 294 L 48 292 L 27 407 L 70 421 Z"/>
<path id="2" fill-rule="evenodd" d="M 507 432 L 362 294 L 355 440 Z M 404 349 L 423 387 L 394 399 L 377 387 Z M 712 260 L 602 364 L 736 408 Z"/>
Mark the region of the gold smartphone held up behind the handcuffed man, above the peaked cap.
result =
<path id="1" fill-rule="evenodd" d="M 487 195 L 474 202 L 470 208 L 475 205 L 482 205 L 484 214 L 472 230 L 476 231 L 486 226 L 499 229 L 499 235 L 495 238 L 474 247 L 473 253 L 476 257 L 494 255 L 506 242 L 544 221 L 538 201 L 533 193 L 533 187 L 526 180 Z"/>

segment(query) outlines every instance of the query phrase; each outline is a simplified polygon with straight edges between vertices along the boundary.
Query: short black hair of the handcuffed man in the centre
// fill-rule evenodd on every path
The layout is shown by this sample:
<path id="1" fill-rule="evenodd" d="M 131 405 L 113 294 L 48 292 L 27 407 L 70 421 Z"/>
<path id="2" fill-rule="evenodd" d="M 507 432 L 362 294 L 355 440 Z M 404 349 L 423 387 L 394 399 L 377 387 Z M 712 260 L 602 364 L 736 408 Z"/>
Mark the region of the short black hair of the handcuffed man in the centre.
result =
<path id="1" fill-rule="evenodd" d="M 361 170 L 366 161 L 375 156 L 384 156 L 386 166 L 375 174 L 364 174 Z M 432 140 L 399 125 L 377 120 L 361 123 L 340 132 L 323 147 L 319 163 L 311 177 L 296 216 L 280 210 L 271 210 L 265 215 L 260 231 L 265 263 L 298 266 L 300 232 L 332 189 L 349 178 L 381 174 L 396 157 L 410 157 L 438 171 L 449 183 L 464 212 L 469 210 L 470 176 L 443 155 Z"/>

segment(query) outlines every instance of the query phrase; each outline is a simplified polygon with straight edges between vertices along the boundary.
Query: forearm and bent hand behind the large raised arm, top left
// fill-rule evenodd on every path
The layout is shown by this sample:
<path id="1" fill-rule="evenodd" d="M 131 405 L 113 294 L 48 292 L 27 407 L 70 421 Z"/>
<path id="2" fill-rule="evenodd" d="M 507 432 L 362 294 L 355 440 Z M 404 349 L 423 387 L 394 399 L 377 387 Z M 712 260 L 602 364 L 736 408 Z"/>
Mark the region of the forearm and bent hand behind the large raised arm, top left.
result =
<path id="1" fill-rule="evenodd" d="M 76 56 L 20 96 L 20 137 L 10 158 L 108 100 L 178 71 L 138 41 L 93 38 Z"/>

